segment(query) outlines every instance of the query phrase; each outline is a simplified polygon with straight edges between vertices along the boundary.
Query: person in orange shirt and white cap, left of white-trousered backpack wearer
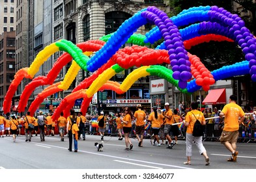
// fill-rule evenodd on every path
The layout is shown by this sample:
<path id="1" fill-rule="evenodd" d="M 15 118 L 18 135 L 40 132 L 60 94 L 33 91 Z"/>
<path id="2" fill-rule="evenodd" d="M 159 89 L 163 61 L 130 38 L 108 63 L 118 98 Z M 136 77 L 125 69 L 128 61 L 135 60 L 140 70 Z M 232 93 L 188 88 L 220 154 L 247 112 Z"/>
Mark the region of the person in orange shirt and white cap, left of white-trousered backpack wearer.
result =
<path id="1" fill-rule="evenodd" d="M 165 107 L 165 111 L 163 112 L 164 135 L 169 142 L 169 146 L 167 148 L 173 148 L 173 146 L 175 145 L 175 142 L 173 142 L 173 140 L 171 140 L 171 136 L 169 135 L 169 133 L 171 131 L 171 125 L 173 124 L 173 111 L 171 111 L 169 106 L 170 106 L 169 103 L 164 104 L 164 107 Z"/>

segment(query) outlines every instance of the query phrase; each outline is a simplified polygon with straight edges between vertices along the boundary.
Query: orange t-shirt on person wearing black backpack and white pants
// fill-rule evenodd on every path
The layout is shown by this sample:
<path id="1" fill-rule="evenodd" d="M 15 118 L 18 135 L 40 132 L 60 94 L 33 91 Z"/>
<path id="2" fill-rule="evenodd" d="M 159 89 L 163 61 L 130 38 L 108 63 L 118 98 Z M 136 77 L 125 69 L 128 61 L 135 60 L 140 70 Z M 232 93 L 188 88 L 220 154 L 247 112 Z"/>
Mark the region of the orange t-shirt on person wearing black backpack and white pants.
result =
<path id="1" fill-rule="evenodd" d="M 193 133 L 193 125 L 195 125 L 196 120 L 199 120 L 201 123 L 205 122 L 205 116 L 203 115 L 203 112 L 194 109 L 187 113 L 185 121 L 188 122 L 189 125 L 187 127 L 186 133 Z"/>

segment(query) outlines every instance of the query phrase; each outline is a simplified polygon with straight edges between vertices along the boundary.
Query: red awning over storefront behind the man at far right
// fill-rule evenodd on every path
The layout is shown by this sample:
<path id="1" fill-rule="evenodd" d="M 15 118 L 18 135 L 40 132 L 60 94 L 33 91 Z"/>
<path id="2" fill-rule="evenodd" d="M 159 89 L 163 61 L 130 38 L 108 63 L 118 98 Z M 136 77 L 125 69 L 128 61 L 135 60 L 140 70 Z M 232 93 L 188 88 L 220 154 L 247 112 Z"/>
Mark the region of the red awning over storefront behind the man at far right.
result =
<path id="1" fill-rule="evenodd" d="M 216 105 L 226 103 L 226 90 L 225 88 L 210 90 L 209 94 L 203 100 L 203 105 Z"/>

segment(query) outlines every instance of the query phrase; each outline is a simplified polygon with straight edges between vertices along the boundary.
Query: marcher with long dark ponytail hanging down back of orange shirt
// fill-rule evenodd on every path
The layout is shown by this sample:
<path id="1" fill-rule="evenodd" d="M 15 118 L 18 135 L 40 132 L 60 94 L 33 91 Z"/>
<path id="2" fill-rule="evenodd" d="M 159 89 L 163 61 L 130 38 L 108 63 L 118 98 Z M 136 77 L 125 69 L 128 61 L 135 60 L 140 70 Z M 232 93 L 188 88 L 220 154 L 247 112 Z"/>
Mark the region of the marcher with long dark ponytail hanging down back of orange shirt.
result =
<path id="1" fill-rule="evenodd" d="M 152 123 L 152 131 L 154 134 L 154 139 L 158 142 L 157 146 L 161 146 L 158 138 L 158 133 L 160 131 L 160 127 L 163 123 L 164 116 L 160 109 L 156 106 L 153 107 L 153 112 L 150 113 L 148 120 Z"/>

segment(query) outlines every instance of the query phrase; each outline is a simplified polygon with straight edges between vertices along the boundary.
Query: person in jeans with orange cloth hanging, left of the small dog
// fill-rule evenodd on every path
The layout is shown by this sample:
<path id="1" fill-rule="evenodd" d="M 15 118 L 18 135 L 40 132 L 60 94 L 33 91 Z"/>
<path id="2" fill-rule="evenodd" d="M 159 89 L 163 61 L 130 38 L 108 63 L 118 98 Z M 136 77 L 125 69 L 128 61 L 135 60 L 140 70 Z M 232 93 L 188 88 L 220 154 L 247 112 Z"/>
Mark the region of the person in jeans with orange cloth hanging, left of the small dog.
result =
<path id="1" fill-rule="evenodd" d="M 72 139 L 74 138 L 74 152 L 78 152 L 78 125 L 76 112 L 74 109 L 70 109 L 70 116 L 66 119 L 68 122 L 66 124 L 66 132 L 68 133 L 69 140 L 69 151 L 72 151 Z"/>

